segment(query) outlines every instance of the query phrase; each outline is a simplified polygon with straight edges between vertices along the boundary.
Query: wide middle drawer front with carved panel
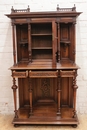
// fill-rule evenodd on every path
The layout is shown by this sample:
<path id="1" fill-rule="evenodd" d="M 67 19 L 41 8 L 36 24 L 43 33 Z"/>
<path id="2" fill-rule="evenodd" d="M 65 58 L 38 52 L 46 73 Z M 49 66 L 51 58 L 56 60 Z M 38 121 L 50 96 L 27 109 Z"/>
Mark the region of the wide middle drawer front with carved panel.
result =
<path id="1" fill-rule="evenodd" d="M 29 71 L 30 78 L 56 78 L 58 71 Z"/>

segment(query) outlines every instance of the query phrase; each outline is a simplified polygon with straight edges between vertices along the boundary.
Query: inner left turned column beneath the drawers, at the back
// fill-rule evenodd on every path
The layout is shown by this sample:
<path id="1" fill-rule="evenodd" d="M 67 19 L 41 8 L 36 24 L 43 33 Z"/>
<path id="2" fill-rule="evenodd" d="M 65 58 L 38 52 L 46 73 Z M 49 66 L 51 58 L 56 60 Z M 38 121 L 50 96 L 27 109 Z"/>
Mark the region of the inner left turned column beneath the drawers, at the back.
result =
<path id="1" fill-rule="evenodd" d="M 29 106 L 30 106 L 30 110 L 29 110 L 29 115 L 33 114 L 33 110 L 32 110 L 32 81 L 31 78 L 29 78 Z"/>

